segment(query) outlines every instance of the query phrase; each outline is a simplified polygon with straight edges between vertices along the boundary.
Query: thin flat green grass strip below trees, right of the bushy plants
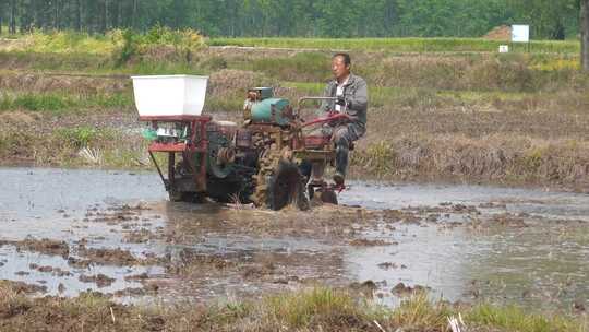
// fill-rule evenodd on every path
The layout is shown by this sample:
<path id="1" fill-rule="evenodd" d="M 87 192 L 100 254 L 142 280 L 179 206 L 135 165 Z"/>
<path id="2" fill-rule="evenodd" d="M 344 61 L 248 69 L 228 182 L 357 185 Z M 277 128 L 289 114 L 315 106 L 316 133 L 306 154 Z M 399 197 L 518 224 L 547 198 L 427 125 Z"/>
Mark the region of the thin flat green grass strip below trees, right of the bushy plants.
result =
<path id="1" fill-rule="evenodd" d="M 310 48 L 322 50 L 369 50 L 393 52 L 461 52 L 497 51 L 505 42 L 482 38 L 213 38 L 211 46 L 249 46 Z M 515 51 L 527 51 L 525 45 L 513 45 Z M 530 43 L 531 52 L 578 54 L 579 42 L 538 40 Z"/>

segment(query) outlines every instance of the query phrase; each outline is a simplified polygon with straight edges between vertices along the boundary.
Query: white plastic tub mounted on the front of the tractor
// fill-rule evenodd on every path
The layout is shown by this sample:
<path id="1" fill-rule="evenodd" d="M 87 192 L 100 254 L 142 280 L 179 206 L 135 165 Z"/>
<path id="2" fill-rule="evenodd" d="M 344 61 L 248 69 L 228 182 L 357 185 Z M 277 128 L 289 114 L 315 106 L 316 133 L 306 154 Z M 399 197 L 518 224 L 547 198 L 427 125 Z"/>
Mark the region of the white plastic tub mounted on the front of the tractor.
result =
<path id="1" fill-rule="evenodd" d="M 140 117 L 200 116 L 206 97 L 208 76 L 132 76 Z"/>

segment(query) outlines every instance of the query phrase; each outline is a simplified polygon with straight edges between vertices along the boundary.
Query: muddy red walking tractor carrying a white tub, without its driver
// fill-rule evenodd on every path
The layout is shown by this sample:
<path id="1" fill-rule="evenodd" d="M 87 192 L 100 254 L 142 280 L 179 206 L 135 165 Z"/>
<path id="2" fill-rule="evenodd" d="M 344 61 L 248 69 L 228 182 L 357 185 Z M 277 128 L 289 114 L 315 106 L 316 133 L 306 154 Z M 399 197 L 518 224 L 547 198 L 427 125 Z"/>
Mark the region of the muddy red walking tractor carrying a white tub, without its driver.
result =
<path id="1" fill-rule="evenodd" d="M 304 102 L 329 98 L 304 97 L 294 109 L 272 88 L 254 87 L 238 126 L 202 114 L 206 76 L 132 79 L 140 121 L 147 122 L 148 153 L 171 201 L 209 198 L 272 210 L 288 204 L 306 210 L 309 198 L 337 204 L 336 192 L 344 188 L 323 180 L 325 167 L 335 162 L 333 130 L 321 128 L 349 118 L 335 111 L 310 121 L 300 116 Z"/>

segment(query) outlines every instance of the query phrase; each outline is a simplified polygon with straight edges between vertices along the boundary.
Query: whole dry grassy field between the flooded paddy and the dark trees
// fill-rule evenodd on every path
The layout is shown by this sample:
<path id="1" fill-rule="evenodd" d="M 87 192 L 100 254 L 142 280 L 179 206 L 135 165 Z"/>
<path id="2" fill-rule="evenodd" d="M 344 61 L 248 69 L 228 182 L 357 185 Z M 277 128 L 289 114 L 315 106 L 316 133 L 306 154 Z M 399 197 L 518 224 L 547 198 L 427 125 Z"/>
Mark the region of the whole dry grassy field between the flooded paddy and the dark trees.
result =
<path id="1" fill-rule="evenodd" d="M 209 75 L 205 111 L 230 120 L 239 120 L 251 86 L 274 86 L 290 100 L 320 95 L 330 75 L 328 49 L 337 44 L 350 46 L 353 70 L 370 86 L 369 132 L 353 153 L 356 169 L 390 179 L 589 186 L 589 75 L 579 71 L 576 43 L 538 42 L 530 54 L 498 55 L 483 39 L 208 40 L 320 49 L 309 51 L 212 48 L 187 36 L 35 33 L 0 43 L 2 164 L 84 165 L 76 150 L 140 149 L 131 74 Z M 23 115 L 33 119 L 28 127 L 15 126 Z M 113 130 L 119 145 L 60 143 L 56 130 L 80 128 Z M 52 142 L 47 146 L 57 142 L 63 157 L 28 149 L 28 132 L 41 132 L 36 140 Z M 127 159 L 145 161 L 140 152 Z M 141 166 L 108 162 L 120 157 L 113 155 L 99 165 Z"/>

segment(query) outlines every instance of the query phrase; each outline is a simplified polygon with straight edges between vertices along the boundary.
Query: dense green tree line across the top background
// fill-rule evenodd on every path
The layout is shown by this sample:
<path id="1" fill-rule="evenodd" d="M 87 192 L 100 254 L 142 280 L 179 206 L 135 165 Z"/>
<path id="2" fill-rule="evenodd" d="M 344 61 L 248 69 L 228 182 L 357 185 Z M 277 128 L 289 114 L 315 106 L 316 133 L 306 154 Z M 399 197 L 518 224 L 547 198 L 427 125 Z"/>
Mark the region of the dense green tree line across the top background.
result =
<path id="1" fill-rule="evenodd" d="M 579 34 L 585 0 L 0 0 L 0 29 L 104 33 L 161 24 L 232 37 L 479 37 L 530 24 L 532 38 Z"/>

